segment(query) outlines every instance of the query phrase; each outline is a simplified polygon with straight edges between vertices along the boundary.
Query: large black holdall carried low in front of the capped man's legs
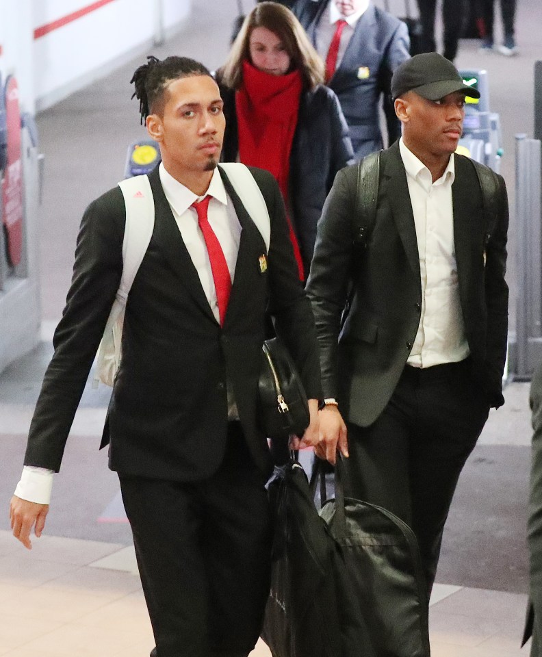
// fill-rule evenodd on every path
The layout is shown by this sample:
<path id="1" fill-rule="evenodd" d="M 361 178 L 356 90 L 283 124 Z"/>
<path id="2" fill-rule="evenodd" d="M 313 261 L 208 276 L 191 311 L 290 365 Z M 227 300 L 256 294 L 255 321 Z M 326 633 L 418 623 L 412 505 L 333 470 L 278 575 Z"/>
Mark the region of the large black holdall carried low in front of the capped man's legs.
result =
<path id="1" fill-rule="evenodd" d="M 345 498 L 344 469 L 337 455 L 335 499 L 320 511 L 337 546 L 343 656 L 430 657 L 426 582 L 415 534 L 385 508 Z"/>

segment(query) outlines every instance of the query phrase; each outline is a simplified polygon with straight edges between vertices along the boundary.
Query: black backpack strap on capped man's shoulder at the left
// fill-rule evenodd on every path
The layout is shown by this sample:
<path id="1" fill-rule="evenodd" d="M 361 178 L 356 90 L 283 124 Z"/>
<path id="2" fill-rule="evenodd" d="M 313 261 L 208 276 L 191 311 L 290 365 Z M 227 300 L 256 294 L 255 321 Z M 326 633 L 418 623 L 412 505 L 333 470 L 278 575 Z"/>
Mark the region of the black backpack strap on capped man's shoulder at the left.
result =
<path id="1" fill-rule="evenodd" d="M 354 244 L 366 246 L 374 227 L 378 185 L 380 184 L 380 153 L 370 153 L 358 164 L 356 205 L 352 216 Z"/>

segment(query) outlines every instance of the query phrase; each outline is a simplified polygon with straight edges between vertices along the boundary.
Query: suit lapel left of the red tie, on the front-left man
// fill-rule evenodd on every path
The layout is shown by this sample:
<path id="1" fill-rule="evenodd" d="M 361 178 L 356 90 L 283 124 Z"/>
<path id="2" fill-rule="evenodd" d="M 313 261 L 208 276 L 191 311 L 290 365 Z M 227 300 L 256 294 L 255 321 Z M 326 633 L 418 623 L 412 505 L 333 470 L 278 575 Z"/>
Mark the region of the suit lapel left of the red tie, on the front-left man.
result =
<path id="1" fill-rule="evenodd" d="M 160 252 L 164 255 L 164 258 L 168 261 L 169 266 L 175 274 L 179 276 L 181 283 L 188 290 L 194 301 L 211 320 L 216 322 L 207 296 L 203 292 L 198 272 L 183 242 L 181 232 L 162 189 L 158 167 L 149 174 L 149 181 L 155 202 L 155 229 L 153 237 L 155 237 L 157 244 L 159 244 Z"/>

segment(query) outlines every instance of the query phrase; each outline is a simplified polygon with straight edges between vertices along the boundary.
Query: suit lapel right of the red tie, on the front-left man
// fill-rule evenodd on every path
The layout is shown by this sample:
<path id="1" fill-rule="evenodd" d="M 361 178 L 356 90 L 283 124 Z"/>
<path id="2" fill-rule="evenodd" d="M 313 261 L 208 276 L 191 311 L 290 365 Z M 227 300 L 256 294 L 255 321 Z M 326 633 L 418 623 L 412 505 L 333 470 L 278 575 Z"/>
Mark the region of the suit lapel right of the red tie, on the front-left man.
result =
<path id="1" fill-rule="evenodd" d="M 246 299 L 250 298 L 250 287 L 254 283 L 254 276 L 259 275 L 259 256 L 266 254 L 266 244 L 257 229 L 256 224 L 250 218 L 239 196 L 233 189 L 224 170 L 220 169 L 220 176 L 224 182 L 224 188 L 231 198 L 237 219 L 241 224 L 241 239 L 239 251 L 237 252 L 237 263 L 235 264 L 235 276 L 226 313 L 226 322 L 235 316 L 238 311 L 244 311 Z"/>

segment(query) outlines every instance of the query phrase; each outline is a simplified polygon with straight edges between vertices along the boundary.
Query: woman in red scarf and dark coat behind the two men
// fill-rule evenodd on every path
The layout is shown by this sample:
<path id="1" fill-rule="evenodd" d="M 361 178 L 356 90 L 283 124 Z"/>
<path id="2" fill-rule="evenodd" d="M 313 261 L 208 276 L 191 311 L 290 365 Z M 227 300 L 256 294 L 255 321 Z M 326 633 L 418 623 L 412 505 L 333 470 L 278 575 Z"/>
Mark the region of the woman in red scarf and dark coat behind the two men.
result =
<path id="1" fill-rule="evenodd" d="M 222 160 L 274 175 L 305 280 L 335 174 L 354 161 L 337 96 L 322 85 L 324 63 L 289 9 L 262 2 L 246 17 L 216 79 L 226 116 Z"/>

